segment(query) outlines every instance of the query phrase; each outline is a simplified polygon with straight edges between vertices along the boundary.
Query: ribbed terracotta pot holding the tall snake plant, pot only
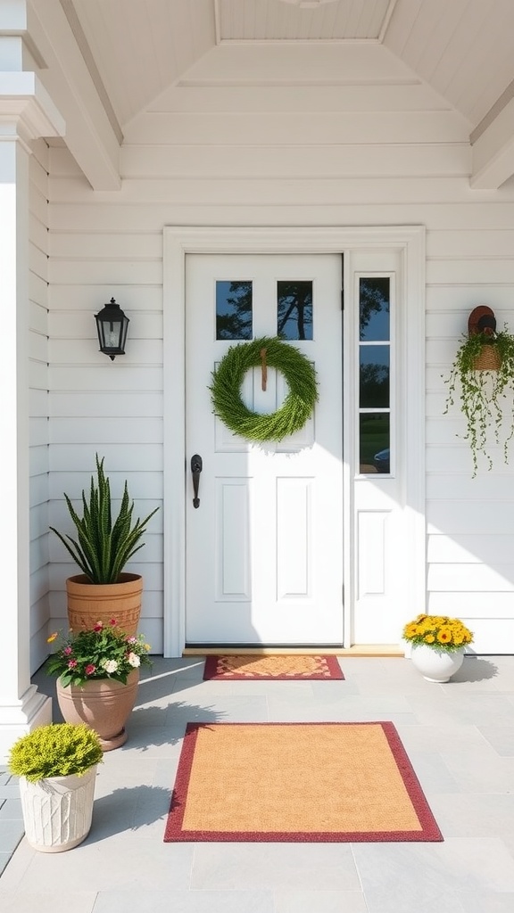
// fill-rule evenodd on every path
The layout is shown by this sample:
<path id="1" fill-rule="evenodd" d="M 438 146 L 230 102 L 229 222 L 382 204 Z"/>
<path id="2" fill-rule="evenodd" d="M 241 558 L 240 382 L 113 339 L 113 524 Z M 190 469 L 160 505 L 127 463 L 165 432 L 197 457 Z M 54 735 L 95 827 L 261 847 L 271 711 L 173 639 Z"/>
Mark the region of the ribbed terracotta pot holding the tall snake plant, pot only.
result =
<path id="1" fill-rule="evenodd" d="M 122 631 L 137 634 L 143 593 L 140 574 L 122 573 L 118 583 L 91 583 L 84 573 L 76 574 L 66 581 L 66 593 L 72 631 L 91 629 L 98 621 L 106 624 L 115 618 Z"/>

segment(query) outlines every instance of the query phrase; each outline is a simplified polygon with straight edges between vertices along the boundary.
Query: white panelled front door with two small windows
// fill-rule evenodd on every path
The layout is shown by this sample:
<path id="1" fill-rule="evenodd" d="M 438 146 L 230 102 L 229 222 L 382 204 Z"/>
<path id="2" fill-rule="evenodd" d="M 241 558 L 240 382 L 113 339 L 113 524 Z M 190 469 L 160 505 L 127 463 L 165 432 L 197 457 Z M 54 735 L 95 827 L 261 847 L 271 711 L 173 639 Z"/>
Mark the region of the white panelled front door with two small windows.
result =
<path id="1" fill-rule="evenodd" d="M 186 643 L 342 645 L 342 329 L 337 254 L 186 257 Z M 212 413 L 231 345 L 276 336 L 316 367 L 313 417 L 280 444 L 250 444 Z M 282 374 L 242 387 L 274 412 Z M 202 460 L 193 506 L 191 457 Z"/>

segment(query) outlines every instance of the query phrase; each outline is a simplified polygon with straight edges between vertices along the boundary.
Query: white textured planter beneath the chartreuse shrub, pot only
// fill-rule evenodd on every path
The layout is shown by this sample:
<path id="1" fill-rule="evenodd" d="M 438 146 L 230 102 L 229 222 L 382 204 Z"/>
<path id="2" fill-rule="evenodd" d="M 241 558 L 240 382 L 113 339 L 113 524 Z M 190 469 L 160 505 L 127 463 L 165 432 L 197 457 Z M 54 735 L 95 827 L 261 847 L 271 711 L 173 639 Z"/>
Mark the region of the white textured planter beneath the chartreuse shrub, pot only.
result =
<path id="1" fill-rule="evenodd" d="M 41 853 L 62 853 L 85 840 L 91 830 L 97 764 L 82 777 L 19 778 L 27 842 Z"/>

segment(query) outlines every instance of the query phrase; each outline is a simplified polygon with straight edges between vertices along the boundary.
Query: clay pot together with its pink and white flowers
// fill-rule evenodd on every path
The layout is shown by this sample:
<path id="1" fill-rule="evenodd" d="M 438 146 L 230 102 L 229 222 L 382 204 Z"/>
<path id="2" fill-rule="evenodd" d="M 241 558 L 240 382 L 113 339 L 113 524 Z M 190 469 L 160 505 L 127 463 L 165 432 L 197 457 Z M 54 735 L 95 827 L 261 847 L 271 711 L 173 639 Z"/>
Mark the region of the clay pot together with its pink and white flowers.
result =
<path id="1" fill-rule="evenodd" d="M 53 643 L 59 634 L 48 637 Z M 125 723 L 134 708 L 139 669 L 150 664 L 144 635 L 127 635 L 114 618 L 91 630 L 70 632 L 48 660 L 57 675 L 59 709 L 67 723 L 86 723 L 100 737 L 103 751 L 127 740 Z"/>

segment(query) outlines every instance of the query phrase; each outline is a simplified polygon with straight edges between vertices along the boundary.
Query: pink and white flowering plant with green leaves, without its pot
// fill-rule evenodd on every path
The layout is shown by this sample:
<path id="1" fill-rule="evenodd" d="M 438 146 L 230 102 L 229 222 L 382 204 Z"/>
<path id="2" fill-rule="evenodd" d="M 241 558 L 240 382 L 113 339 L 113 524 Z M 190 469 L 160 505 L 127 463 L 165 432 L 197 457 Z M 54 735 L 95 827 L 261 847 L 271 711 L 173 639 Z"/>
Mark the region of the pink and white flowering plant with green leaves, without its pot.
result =
<path id="1" fill-rule="evenodd" d="M 60 639 L 59 639 L 60 638 Z M 115 618 L 108 624 L 97 622 L 94 627 L 64 639 L 56 631 L 48 644 L 58 641 L 57 651 L 48 660 L 48 675 L 57 675 L 63 687 L 83 685 L 97 678 L 112 678 L 126 685 L 133 669 L 151 665 L 150 645 L 145 636 L 127 635 L 120 630 Z"/>

